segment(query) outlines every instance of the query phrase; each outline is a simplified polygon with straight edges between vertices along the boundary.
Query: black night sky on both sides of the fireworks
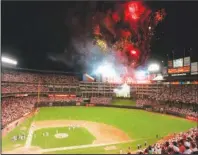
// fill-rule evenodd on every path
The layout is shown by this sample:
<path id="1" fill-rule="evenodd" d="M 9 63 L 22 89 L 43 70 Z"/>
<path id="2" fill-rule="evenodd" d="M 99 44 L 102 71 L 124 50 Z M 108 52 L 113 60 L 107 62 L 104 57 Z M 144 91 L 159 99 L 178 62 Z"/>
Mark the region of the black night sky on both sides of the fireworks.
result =
<path id="1" fill-rule="evenodd" d="M 82 71 L 82 66 L 69 63 L 74 55 L 71 43 L 71 18 L 74 10 L 82 18 L 95 9 L 111 7 L 113 2 L 12 2 L 1 4 L 2 55 L 14 57 L 19 67 L 62 71 Z M 164 8 L 167 16 L 160 23 L 151 44 L 150 59 L 167 61 L 174 50 L 175 58 L 191 53 L 198 61 L 198 2 L 146 2 L 152 10 Z M 83 20 L 82 20 L 83 22 Z M 83 24 L 82 24 L 83 25 Z M 189 52 L 191 49 L 191 52 Z M 53 61 L 59 55 L 65 63 Z"/>

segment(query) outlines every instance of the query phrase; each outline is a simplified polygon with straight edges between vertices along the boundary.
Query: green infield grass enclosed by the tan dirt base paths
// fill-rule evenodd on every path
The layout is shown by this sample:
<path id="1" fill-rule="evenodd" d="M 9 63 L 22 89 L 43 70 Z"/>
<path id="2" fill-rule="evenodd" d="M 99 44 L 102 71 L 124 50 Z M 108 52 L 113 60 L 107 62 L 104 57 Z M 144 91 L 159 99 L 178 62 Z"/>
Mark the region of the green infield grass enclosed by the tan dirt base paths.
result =
<path id="1" fill-rule="evenodd" d="M 67 138 L 56 138 L 55 134 L 67 133 Z M 49 136 L 43 136 L 43 133 L 49 133 Z M 32 138 L 32 146 L 39 146 L 43 149 L 74 146 L 74 145 L 85 145 L 91 144 L 95 140 L 95 137 L 88 132 L 85 128 L 70 129 L 68 127 L 57 127 L 57 128 L 43 128 L 36 130 Z"/>

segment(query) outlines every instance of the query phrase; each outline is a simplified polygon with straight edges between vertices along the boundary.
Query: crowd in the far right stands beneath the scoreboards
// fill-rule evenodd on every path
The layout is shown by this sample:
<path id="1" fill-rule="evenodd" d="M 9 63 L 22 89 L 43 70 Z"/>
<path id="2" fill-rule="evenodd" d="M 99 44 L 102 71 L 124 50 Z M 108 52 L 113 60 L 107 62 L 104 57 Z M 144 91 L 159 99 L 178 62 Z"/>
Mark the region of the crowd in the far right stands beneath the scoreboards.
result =
<path id="1" fill-rule="evenodd" d="M 198 104 L 198 85 L 163 85 L 158 91 L 151 93 L 149 97 L 159 101 Z"/>

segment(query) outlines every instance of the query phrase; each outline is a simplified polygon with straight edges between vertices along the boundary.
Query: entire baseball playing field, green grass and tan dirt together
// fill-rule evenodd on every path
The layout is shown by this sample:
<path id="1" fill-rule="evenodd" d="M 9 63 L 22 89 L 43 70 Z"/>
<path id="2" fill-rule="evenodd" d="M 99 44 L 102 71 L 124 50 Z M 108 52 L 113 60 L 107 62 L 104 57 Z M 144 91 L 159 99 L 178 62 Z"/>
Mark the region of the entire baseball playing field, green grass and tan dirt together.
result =
<path id="1" fill-rule="evenodd" d="M 155 143 L 195 126 L 196 123 L 185 119 L 142 110 L 47 107 L 40 108 L 4 136 L 2 146 L 3 153 L 119 153 L 121 148 L 131 146 L 136 150 L 137 144 Z M 26 140 L 10 140 L 21 132 L 25 133 Z M 59 133 L 68 137 L 56 138 Z M 105 149 L 107 146 L 114 149 Z"/>

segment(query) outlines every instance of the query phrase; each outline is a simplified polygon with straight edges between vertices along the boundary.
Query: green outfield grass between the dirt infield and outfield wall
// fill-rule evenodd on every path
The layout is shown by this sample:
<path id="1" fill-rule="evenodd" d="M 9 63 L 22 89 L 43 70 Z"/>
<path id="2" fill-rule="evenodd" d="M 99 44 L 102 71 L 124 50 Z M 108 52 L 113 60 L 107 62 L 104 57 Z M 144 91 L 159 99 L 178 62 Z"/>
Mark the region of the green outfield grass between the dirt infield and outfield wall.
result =
<path id="1" fill-rule="evenodd" d="M 168 133 L 187 130 L 196 125 L 184 119 L 142 110 L 103 107 L 41 108 L 35 116 L 36 121 L 60 119 L 88 120 L 110 124 L 122 129 L 134 139 L 155 137 L 156 134 L 164 136 Z"/>

